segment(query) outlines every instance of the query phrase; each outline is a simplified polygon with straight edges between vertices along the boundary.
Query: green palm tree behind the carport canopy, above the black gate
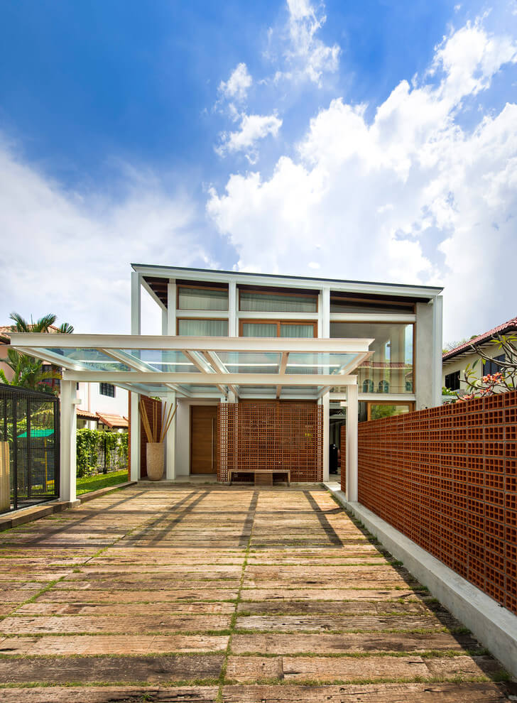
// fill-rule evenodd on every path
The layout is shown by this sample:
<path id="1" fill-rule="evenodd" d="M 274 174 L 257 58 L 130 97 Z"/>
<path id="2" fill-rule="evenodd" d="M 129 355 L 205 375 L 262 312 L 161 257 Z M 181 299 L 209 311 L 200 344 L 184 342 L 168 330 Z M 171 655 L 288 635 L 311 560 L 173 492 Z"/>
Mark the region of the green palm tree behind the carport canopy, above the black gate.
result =
<path id="1" fill-rule="evenodd" d="M 11 332 L 53 332 L 54 334 L 72 334 L 74 328 L 68 322 L 63 322 L 60 327 L 55 327 L 54 322 L 57 319 L 56 315 L 44 315 L 36 322 L 31 317 L 31 322 L 27 322 L 18 312 L 11 312 L 9 315 L 13 320 L 14 325 L 11 325 Z M 21 354 L 15 349 L 7 350 L 7 359 L 5 362 L 13 369 L 13 379 L 8 381 L 4 371 L 0 369 L 0 379 L 3 383 L 9 386 L 23 386 L 23 388 L 31 388 L 33 391 L 45 391 L 45 393 L 54 393 L 57 388 L 54 383 L 49 384 L 47 381 L 61 378 L 60 369 L 58 366 L 52 366 L 50 371 L 43 371 L 43 361 L 35 359 L 28 354 Z"/>

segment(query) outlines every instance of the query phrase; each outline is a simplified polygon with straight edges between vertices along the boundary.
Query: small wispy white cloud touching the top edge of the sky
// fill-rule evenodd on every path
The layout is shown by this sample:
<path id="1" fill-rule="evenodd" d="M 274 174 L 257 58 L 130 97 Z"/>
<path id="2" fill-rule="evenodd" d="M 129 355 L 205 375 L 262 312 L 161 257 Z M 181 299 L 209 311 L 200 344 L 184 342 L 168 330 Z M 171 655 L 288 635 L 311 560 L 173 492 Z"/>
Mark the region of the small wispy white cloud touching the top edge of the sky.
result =
<path id="1" fill-rule="evenodd" d="M 325 72 L 335 72 L 339 66 L 339 46 L 326 45 L 316 33 L 327 21 L 323 14 L 324 5 L 318 8 L 309 0 L 287 0 L 289 19 L 289 45 L 285 51 L 291 72 L 284 77 L 306 77 L 316 85 L 321 84 Z M 277 80 L 281 73 L 277 72 Z"/>

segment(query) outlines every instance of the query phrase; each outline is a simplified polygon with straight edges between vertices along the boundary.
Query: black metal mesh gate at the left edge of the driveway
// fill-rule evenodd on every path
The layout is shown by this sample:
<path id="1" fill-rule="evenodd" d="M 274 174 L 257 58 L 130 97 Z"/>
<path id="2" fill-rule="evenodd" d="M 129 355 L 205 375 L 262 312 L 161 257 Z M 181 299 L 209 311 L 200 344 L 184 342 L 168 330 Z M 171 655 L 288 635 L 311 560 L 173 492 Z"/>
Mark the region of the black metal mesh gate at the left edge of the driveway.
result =
<path id="1" fill-rule="evenodd" d="M 59 494 L 59 398 L 0 383 L 0 513 Z"/>

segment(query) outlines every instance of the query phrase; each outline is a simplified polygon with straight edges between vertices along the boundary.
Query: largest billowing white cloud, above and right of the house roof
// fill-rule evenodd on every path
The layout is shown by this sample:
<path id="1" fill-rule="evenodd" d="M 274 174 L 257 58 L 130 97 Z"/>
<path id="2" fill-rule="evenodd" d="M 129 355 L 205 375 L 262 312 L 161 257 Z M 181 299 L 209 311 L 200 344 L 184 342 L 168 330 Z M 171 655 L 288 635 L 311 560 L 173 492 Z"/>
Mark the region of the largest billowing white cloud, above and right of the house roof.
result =
<path id="1" fill-rule="evenodd" d="M 310 16 L 308 2 L 292 6 L 296 21 Z M 371 124 L 364 106 L 334 99 L 297 158 L 231 175 L 207 212 L 239 268 L 300 274 L 317 261 L 336 278 L 445 283 L 447 339 L 481 331 L 480 316 L 515 315 L 501 252 L 515 258 L 517 105 L 461 125 L 464 99 L 515 60 L 513 40 L 467 24 L 437 47 L 434 84 L 401 81 Z"/>

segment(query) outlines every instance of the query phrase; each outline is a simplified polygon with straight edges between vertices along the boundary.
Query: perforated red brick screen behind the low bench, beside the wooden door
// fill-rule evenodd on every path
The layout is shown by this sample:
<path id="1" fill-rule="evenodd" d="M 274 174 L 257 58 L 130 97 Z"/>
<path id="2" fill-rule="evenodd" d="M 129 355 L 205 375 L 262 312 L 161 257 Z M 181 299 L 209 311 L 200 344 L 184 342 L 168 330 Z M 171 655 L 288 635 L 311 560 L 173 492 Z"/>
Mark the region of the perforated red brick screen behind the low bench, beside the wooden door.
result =
<path id="1" fill-rule="evenodd" d="M 290 469 L 291 481 L 323 480 L 323 408 L 316 403 L 219 403 L 217 477 L 229 469 Z"/>

